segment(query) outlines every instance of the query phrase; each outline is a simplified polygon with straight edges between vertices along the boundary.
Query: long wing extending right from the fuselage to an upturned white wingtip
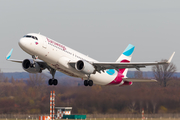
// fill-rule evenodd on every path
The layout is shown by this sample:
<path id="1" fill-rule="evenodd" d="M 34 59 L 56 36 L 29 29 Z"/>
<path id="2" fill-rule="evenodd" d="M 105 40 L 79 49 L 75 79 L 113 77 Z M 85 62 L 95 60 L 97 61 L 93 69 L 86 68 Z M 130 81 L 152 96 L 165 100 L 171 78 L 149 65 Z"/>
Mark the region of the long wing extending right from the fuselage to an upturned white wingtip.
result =
<path id="1" fill-rule="evenodd" d="M 98 72 L 104 71 L 106 69 L 116 69 L 117 71 L 122 68 L 139 68 L 151 66 L 151 65 L 161 65 L 169 64 L 174 56 L 175 52 L 171 55 L 166 62 L 130 62 L 130 63 L 117 63 L 117 62 L 94 62 L 92 65 L 97 69 Z"/>

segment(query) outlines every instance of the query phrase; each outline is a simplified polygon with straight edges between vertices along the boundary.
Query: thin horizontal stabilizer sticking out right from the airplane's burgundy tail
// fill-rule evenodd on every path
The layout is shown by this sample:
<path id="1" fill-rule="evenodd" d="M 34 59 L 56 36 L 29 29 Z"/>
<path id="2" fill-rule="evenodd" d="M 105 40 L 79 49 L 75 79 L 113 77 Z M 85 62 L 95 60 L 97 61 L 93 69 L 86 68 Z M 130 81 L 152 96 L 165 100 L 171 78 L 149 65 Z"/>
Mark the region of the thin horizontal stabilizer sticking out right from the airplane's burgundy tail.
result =
<path id="1" fill-rule="evenodd" d="M 123 80 L 128 82 L 157 82 L 155 79 L 123 78 Z"/>

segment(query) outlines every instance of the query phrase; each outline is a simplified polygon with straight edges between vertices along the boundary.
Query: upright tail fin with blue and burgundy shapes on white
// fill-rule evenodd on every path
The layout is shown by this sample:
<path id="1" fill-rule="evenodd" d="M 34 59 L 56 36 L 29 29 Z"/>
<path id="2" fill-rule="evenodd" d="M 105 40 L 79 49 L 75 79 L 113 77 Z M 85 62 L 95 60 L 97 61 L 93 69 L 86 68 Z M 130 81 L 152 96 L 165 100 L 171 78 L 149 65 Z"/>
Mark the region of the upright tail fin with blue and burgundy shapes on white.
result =
<path id="1" fill-rule="evenodd" d="M 134 48 L 135 48 L 134 45 L 129 44 L 127 46 L 127 48 L 124 50 L 124 52 L 116 60 L 116 62 L 120 62 L 120 63 L 128 62 L 129 63 L 131 61 L 132 54 L 134 52 Z M 128 72 L 128 68 L 119 69 L 119 73 L 122 74 L 124 76 L 124 78 L 126 78 L 127 72 Z"/>

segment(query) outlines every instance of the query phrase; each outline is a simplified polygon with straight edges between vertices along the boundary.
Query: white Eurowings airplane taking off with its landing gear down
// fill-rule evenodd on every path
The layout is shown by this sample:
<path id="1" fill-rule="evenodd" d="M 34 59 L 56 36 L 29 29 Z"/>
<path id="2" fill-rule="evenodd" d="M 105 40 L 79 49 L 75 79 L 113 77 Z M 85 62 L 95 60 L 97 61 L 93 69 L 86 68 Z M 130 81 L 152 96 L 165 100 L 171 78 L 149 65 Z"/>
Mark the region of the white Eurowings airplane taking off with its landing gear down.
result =
<path id="1" fill-rule="evenodd" d="M 49 85 L 58 84 L 58 80 L 54 78 L 56 71 L 81 78 L 85 86 L 128 86 L 133 82 L 156 82 L 154 79 L 127 78 L 128 68 L 140 70 L 146 66 L 169 64 L 175 54 L 173 52 L 166 62 L 131 62 L 135 46 L 129 44 L 115 62 L 98 62 L 41 34 L 26 34 L 18 43 L 32 59 L 10 59 L 13 52 L 11 49 L 6 60 L 21 63 L 22 68 L 29 73 L 41 73 L 48 69 L 52 75 Z"/>

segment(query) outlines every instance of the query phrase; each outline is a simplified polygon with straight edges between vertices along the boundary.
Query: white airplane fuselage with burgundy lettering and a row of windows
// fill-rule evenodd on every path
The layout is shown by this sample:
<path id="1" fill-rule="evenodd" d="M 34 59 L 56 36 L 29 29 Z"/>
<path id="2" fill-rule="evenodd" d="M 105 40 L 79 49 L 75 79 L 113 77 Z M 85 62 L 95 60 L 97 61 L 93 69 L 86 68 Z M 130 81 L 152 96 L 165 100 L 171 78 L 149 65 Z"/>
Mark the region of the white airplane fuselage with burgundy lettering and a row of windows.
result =
<path id="1" fill-rule="evenodd" d="M 38 56 L 38 59 L 46 62 L 50 67 L 65 73 L 69 76 L 87 79 L 87 75 L 71 67 L 68 62 L 76 62 L 78 60 L 85 60 L 90 63 L 97 62 L 96 60 L 83 55 L 61 43 L 58 43 L 50 38 L 40 34 L 30 34 L 38 38 L 21 38 L 19 46 L 28 54 Z M 90 79 L 95 84 L 108 85 L 117 77 L 117 73 L 109 75 L 105 72 L 91 74 Z M 121 85 L 122 83 L 118 84 Z"/>

